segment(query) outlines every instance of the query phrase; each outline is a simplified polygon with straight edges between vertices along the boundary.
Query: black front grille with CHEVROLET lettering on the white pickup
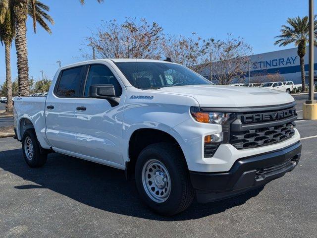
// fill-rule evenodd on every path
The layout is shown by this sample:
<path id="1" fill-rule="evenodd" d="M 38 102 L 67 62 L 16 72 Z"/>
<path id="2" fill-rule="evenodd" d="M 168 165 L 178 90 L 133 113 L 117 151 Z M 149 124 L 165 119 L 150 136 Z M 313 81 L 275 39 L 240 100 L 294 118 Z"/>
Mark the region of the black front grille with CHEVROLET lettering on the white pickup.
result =
<path id="1" fill-rule="evenodd" d="M 295 134 L 295 108 L 283 110 L 238 113 L 231 124 L 230 144 L 246 149 L 278 143 Z"/>

